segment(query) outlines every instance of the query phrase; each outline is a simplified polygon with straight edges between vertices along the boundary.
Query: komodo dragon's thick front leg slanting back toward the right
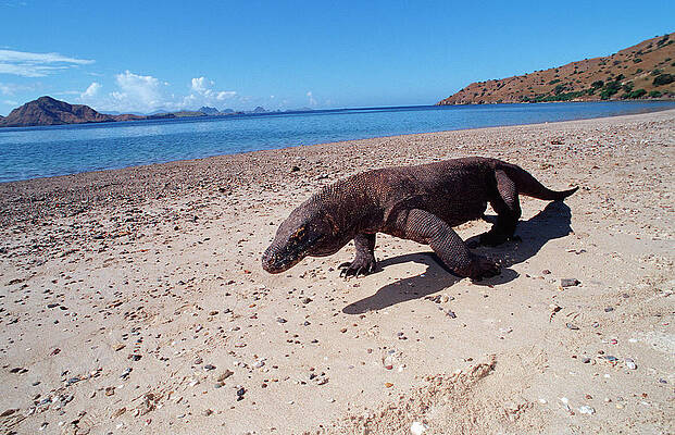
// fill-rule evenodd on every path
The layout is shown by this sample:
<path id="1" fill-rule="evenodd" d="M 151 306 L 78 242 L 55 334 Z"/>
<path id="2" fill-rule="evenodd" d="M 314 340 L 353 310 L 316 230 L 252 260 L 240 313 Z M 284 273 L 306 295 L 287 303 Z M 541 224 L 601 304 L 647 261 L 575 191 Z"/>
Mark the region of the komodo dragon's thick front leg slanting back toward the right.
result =
<path id="1" fill-rule="evenodd" d="M 403 238 L 428 245 L 448 269 L 460 276 L 482 279 L 499 274 L 498 264 L 472 253 L 452 227 L 427 211 L 410 210 L 396 225 Z"/>

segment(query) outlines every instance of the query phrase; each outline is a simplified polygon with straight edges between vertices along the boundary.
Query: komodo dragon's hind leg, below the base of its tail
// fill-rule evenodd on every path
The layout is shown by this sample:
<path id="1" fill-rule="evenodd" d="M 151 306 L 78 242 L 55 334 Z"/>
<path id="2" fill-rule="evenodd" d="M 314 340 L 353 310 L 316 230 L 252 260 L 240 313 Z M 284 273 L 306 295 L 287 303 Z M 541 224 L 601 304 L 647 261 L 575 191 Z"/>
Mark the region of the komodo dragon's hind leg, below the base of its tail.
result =
<path id="1" fill-rule="evenodd" d="M 501 170 L 495 172 L 497 191 L 490 198 L 490 206 L 497 212 L 497 223 L 487 233 L 480 235 L 480 244 L 501 245 L 510 240 L 521 219 L 521 202 L 515 183 Z"/>

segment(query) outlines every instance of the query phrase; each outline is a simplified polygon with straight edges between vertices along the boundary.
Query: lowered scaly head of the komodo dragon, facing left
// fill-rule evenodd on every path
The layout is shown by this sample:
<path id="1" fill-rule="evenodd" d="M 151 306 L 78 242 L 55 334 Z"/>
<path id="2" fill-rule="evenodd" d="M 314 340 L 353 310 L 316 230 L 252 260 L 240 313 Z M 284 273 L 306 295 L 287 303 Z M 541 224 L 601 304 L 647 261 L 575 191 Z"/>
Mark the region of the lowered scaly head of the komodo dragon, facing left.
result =
<path id="1" fill-rule="evenodd" d="M 312 207 L 311 202 L 303 206 L 293 210 L 279 225 L 274 241 L 262 258 L 265 271 L 282 273 L 307 256 L 332 256 L 349 241 L 338 236 L 338 228 L 329 214 Z"/>

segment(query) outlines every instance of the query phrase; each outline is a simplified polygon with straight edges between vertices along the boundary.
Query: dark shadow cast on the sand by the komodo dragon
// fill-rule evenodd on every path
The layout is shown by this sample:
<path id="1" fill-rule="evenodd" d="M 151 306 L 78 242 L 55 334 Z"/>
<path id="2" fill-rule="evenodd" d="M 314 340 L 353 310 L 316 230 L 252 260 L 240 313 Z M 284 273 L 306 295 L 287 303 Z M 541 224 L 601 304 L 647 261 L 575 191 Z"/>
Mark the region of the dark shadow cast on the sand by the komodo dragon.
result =
<path id="1" fill-rule="evenodd" d="M 489 220 L 489 216 L 488 216 Z M 516 229 L 515 240 L 507 241 L 498 247 L 478 247 L 475 251 L 501 260 L 501 274 L 488 279 L 474 282 L 476 285 L 492 286 L 515 279 L 518 274 L 509 269 L 534 257 L 549 240 L 567 236 L 572 232 L 572 212 L 562 201 L 550 202 L 542 211 L 527 221 L 521 221 Z M 471 237 L 466 244 L 476 245 L 478 236 Z M 423 298 L 454 285 L 462 278 L 449 273 L 434 252 L 407 253 L 388 258 L 378 263 L 384 270 L 393 264 L 413 261 L 427 265 L 427 270 L 415 276 L 399 279 L 379 288 L 377 293 L 342 309 L 346 314 L 362 314 L 382 310 L 412 299 Z"/>

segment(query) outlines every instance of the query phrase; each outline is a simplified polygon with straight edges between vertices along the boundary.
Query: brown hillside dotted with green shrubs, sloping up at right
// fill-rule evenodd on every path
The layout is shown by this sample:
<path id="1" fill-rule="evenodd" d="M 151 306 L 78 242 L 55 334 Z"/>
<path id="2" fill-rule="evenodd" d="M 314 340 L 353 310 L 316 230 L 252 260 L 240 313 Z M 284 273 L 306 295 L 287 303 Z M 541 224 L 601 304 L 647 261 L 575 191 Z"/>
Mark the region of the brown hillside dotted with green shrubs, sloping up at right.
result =
<path id="1" fill-rule="evenodd" d="M 604 58 L 472 83 L 437 104 L 638 98 L 675 98 L 675 33 L 647 39 Z"/>

